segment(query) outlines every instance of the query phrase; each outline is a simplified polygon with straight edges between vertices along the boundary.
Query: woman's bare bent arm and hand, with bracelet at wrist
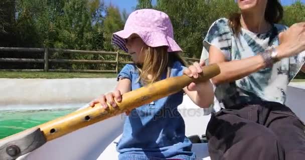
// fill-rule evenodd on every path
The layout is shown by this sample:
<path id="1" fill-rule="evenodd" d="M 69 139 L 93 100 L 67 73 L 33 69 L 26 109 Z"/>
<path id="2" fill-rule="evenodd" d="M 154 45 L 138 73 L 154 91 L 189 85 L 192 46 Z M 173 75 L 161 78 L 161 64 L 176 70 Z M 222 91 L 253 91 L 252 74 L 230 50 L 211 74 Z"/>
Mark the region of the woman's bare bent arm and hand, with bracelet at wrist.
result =
<path id="1" fill-rule="evenodd" d="M 286 31 L 281 32 L 279 41 L 281 43 L 276 47 L 277 59 L 300 53 L 305 49 L 305 22 L 293 24 Z M 266 67 L 261 55 L 225 61 L 224 54 L 213 45 L 209 49 L 209 63 L 218 63 L 221 70 L 219 75 L 212 78 L 214 84 L 234 81 Z"/>

